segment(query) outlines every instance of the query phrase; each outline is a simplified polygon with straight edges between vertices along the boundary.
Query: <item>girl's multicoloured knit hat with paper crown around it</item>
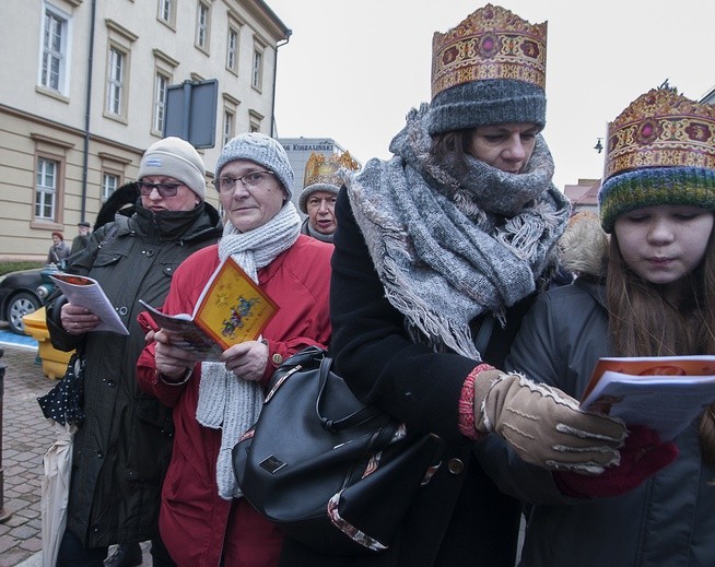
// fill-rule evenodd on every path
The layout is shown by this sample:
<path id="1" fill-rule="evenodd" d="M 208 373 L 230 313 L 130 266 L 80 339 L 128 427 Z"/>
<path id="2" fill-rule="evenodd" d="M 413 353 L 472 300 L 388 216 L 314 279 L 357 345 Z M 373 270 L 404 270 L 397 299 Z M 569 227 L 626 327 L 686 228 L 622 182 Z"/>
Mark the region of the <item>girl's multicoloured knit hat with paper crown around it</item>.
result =
<path id="1" fill-rule="evenodd" d="M 641 95 L 608 127 L 601 226 L 660 204 L 715 211 L 715 107 L 670 88 Z"/>

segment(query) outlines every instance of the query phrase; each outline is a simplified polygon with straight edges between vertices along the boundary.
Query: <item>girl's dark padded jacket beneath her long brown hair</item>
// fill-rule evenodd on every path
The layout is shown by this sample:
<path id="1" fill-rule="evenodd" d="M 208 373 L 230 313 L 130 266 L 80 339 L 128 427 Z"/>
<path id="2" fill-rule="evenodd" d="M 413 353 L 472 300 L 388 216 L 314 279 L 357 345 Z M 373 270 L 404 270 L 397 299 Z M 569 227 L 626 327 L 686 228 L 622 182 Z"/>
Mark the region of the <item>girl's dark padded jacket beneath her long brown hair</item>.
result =
<path id="1" fill-rule="evenodd" d="M 581 398 L 600 356 L 611 356 L 603 286 L 579 277 L 543 294 L 524 319 L 507 366 Z M 676 438 L 678 459 L 617 497 L 565 498 L 551 473 L 526 465 L 496 439 L 480 447 L 500 486 L 536 504 L 524 567 L 712 567 L 715 466 L 702 461 L 695 420 Z"/>

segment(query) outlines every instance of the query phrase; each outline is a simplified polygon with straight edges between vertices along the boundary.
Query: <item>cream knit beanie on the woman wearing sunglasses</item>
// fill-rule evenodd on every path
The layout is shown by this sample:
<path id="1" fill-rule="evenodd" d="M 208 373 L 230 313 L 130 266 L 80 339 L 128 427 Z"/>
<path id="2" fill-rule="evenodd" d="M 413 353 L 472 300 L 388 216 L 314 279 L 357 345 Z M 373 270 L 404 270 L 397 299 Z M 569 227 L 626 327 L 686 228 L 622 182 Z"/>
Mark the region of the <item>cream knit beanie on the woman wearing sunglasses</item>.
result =
<path id="1" fill-rule="evenodd" d="M 139 179 L 148 175 L 174 177 L 203 201 L 206 199 L 206 167 L 203 160 L 186 140 L 169 137 L 154 142 L 139 164 Z"/>

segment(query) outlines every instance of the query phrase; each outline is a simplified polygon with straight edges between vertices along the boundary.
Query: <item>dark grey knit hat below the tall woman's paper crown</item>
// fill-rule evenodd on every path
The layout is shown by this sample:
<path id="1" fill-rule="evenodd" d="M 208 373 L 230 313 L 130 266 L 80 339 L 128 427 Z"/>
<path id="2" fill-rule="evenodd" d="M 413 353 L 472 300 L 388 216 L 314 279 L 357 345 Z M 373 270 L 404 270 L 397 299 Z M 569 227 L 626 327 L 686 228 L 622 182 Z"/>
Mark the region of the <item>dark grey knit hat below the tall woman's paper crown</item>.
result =
<path id="1" fill-rule="evenodd" d="M 547 97 L 539 86 L 514 79 L 488 79 L 452 86 L 432 99 L 430 135 L 505 122 L 547 123 Z"/>

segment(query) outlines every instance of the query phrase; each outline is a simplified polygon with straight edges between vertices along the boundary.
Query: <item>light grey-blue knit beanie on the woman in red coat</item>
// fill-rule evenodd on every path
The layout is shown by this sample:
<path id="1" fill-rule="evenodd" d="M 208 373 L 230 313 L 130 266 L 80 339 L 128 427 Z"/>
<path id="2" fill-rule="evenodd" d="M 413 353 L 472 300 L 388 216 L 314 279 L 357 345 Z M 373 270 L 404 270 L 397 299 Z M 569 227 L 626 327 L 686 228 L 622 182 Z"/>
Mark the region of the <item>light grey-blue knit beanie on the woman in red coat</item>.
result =
<path id="1" fill-rule="evenodd" d="M 276 174 L 290 199 L 293 193 L 293 168 L 283 146 L 270 135 L 260 132 L 238 134 L 223 146 L 216 162 L 216 179 L 228 162 L 249 160 Z"/>

